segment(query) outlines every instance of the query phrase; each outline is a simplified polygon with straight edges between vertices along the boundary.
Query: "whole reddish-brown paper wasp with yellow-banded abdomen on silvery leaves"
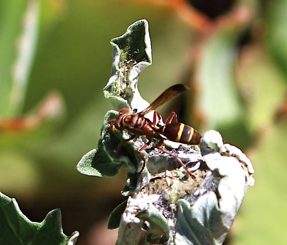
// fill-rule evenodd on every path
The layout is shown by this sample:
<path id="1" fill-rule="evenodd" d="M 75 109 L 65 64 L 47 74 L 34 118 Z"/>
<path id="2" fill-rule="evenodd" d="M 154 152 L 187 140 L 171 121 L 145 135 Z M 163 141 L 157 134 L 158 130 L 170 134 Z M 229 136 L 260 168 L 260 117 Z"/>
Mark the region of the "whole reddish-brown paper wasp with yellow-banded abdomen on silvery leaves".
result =
<path id="1" fill-rule="evenodd" d="M 177 114 L 172 112 L 168 119 L 165 121 L 164 126 L 157 126 L 160 121 L 160 115 L 156 108 L 160 107 L 167 101 L 173 99 L 179 94 L 187 90 L 186 86 L 183 84 L 176 84 L 166 89 L 153 103 L 151 103 L 146 109 L 139 113 L 130 113 L 128 108 L 122 108 L 119 110 L 119 116 L 116 119 L 110 119 L 110 127 L 112 132 L 115 132 L 115 128 L 123 132 L 123 130 L 128 130 L 133 133 L 133 135 L 122 141 L 117 151 L 121 148 L 123 142 L 133 140 L 135 136 L 145 135 L 148 142 L 145 143 L 137 152 L 140 158 L 143 160 L 144 165 L 141 171 L 144 169 L 146 159 L 141 155 L 141 151 L 146 149 L 152 142 L 152 139 L 158 139 L 158 144 L 155 148 L 167 153 L 168 155 L 174 157 L 187 171 L 187 173 L 194 179 L 195 176 L 192 175 L 185 164 L 177 157 L 174 153 L 167 151 L 162 148 L 164 140 L 168 139 L 174 142 L 179 142 L 183 144 L 196 145 L 199 144 L 201 135 L 192 127 L 177 122 Z M 153 121 L 144 117 L 147 113 L 154 111 Z M 172 122 L 174 121 L 174 122 Z M 141 173 L 141 171 L 139 173 Z"/>

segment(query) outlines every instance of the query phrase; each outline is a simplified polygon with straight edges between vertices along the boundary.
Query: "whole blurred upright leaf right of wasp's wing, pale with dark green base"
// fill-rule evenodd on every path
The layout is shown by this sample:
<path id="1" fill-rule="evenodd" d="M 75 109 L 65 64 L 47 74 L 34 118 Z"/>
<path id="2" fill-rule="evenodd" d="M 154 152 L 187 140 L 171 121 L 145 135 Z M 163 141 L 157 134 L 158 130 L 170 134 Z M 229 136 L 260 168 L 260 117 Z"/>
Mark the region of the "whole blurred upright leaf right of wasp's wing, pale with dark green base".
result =
<path id="1" fill-rule="evenodd" d="M 210 36 L 203 47 L 196 79 L 201 86 L 197 106 L 203 113 L 205 130 L 220 131 L 226 142 L 244 148 L 250 135 L 233 75 L 236 40 L 241 32 L 242 28 L 236 26 Z"/>

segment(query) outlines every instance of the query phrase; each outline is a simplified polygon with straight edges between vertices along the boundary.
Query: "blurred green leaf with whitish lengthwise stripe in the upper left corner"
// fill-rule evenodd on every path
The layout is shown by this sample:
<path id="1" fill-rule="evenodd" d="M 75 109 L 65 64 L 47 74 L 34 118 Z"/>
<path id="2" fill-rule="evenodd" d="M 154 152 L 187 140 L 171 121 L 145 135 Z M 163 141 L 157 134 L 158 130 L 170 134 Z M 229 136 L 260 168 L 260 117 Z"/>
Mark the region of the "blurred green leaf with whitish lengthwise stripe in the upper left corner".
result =
<path id="1" fill-rule="evenodd" d="M 40 1 L 0 3 L 0 115 L 20 112 L 38 38 Z"/>

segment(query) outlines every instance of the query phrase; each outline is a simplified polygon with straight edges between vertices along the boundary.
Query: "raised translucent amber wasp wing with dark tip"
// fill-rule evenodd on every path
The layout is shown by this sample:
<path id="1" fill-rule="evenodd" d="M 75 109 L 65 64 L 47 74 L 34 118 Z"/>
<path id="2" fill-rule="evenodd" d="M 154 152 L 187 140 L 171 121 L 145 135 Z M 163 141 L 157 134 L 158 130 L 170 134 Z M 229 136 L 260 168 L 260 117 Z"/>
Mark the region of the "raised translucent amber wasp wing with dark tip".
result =
<path id="1" fill-rule="evenodd" d="M 171 99 L 177 97 L 179 94 L 182 94 L 188 88 L 183 84 L 175 84 L 168 89 L 166 89 L 153 103 L 151 103 L 146 109 L 141 111 L 139 114 L 145 115 L 151 111 L 154 111 L 156 108 L 160 107 L 164 103 L 170 101 Z"/>

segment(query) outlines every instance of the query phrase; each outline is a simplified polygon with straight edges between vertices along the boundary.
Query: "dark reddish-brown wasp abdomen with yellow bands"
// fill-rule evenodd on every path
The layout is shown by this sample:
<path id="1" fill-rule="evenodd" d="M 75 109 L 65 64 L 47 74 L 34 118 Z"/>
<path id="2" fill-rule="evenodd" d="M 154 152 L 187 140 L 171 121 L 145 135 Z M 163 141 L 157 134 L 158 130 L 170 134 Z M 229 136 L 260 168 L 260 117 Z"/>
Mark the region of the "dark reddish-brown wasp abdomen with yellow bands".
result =
<path id="1" fill-rule="evenodd" d="M 170 123 L 158 129 L 160 134 L 174 142 L 199 144 L 201 135 L 192 127 L 183 123 Z"/>

